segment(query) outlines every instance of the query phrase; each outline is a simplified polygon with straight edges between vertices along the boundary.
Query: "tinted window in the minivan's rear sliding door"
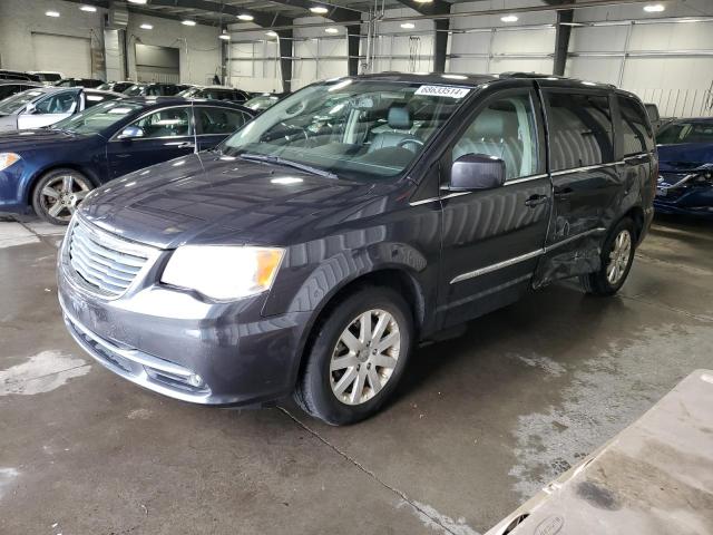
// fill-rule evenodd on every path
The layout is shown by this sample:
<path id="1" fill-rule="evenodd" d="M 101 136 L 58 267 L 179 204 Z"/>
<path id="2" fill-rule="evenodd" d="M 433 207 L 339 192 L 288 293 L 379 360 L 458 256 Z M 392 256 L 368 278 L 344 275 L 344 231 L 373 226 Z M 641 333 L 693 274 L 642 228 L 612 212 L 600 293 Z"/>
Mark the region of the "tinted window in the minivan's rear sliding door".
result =
<path id="1" fill-rule="evenodd" d="M 546 93 L 551 171 L 614 162 L 606 96 Z"/>

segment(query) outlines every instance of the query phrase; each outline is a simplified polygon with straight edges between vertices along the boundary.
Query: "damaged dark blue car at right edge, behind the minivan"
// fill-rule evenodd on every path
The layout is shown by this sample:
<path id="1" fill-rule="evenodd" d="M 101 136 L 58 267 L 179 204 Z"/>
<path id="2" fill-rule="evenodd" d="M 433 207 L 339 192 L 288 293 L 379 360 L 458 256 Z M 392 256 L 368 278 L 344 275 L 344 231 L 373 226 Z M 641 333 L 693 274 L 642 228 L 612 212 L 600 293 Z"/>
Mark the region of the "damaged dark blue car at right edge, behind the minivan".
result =
<path id="1" fill-rule="evenodd" d="M 656 142 L 656 211 L 713 218 L 713 118 L 674 120 Z"/>

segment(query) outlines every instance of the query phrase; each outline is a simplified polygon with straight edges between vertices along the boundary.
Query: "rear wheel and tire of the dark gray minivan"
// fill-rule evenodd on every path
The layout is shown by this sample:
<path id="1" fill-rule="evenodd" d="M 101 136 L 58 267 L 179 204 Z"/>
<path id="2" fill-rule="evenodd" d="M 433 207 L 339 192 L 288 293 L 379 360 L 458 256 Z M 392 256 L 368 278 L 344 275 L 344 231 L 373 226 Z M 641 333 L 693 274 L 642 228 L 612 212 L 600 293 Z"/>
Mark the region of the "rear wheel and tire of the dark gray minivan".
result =
<path id="1" fill-rule="evenodd" d="M 628 243 L 627 246 L 625 244 Z M 626 282 L 634 262 L 636 228 L 624 217 L 609 232 L 602 247 L 602 268 L 580 278 L 585 292 L 593 295 L 614 295 Z"/>

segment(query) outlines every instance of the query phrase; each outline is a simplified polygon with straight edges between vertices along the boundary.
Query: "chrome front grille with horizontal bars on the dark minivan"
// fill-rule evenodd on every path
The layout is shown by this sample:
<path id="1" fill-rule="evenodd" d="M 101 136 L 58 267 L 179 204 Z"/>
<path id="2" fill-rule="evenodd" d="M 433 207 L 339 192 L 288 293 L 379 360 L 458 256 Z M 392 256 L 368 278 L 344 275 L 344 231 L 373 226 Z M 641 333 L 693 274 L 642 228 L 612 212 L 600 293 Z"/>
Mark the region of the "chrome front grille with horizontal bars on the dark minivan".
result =
<path id="1" fill-rule="evenodd" d="M 90 290 L 121 295 L 150 256 L 147 247 L 135 245 L 77 222 L 70 228 L 69 263 Z"/>

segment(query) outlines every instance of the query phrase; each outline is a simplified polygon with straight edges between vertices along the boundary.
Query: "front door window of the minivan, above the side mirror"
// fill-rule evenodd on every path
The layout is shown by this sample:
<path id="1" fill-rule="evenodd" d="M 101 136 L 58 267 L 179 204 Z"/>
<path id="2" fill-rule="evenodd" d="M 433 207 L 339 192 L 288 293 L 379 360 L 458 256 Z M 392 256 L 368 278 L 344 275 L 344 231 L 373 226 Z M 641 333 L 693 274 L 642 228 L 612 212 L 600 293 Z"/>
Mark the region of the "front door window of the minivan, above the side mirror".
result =
<path id="1" fill-rule="evenodd" d="M 466 154 L 501 158 L 509 181 L 537 173 L 537 144 L 535 109 L 528 91 L 498 98 L 480 110 L 453 145 L 452 159 Z"/>

